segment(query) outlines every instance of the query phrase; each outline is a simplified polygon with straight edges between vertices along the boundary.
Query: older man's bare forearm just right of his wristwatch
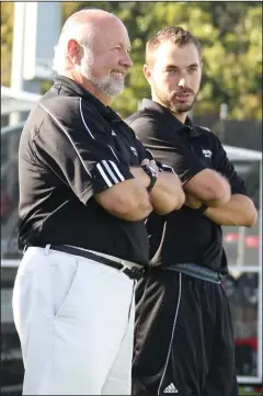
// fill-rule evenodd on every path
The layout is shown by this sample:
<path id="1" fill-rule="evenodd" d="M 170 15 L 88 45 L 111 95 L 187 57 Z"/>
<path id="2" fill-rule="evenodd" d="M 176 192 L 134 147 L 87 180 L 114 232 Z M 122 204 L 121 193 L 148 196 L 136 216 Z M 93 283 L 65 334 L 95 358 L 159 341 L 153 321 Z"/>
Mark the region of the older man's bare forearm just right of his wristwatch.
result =
<path id="1" fill-rule="evenodd" d="M 153 211 L 160 215 L 179 210 L 185 197 L 180 179 L 170 172 L 159 173 L 149 196 Z"/>

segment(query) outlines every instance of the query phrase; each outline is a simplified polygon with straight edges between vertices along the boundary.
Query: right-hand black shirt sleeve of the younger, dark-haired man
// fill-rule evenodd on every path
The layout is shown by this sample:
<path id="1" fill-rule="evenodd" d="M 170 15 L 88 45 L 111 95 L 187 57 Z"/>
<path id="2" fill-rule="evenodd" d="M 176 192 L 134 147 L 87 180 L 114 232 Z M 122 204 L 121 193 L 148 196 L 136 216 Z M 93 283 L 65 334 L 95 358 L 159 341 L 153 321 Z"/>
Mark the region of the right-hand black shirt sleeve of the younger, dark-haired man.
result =
<path id="1" fill-rule="evenodd" d="M 213 134 L 211 136 L 215 139 L 215 155 L 213 158 L 213 166 L 215 170 L 221 173 L 229 181 L 232 194 L 248 195 L 244 181 L 238 176 L 233 165 L 229 161 L 227 152 L 225 151 L 220 140 L 216 135 Z"/>

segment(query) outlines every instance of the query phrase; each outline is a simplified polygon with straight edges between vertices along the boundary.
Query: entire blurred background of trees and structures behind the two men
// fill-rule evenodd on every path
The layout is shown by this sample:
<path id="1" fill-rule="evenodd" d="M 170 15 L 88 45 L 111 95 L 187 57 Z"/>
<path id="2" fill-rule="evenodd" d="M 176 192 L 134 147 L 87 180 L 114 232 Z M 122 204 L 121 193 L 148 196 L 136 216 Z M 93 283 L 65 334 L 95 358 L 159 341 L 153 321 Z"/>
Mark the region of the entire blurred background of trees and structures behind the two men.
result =
<path id="1" fill-rule="evenodd" d="M 1 2 L 1 394 L 21 395 L 23 364 L 11 297 L 18 250 L 18 147 L 30 110 L 50 86 L 62 23 L 83 8 L 118 15 L 132 41 L 126 89 L 112 103 L 123 117 L 150 97 L 145 43 L 181 25 L 203 45 L 203 81 L 192 112 L 209 127 L 245 180 L 260 211 L 254 227 L 224 227 L 240 395 L 262 394 L 262 2 Z M 224 395 L 222 395 L 224 396 Z"/>

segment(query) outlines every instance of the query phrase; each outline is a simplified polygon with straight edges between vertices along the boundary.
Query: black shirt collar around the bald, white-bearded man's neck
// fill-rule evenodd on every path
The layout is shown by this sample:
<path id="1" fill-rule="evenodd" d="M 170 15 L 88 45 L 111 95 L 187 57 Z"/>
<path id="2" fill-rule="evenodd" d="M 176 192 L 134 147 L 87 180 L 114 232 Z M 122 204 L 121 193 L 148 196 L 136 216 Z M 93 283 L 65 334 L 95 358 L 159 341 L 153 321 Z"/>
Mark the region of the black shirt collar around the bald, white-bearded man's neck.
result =
<path id="1" fill-rule="evenodd" d="M 107 121 L 122 121 L 122 118 L 115 113 L 110 106 L 105 106 L 99 99 L 96 99 L 92 93 L 87 91 L 83 87 L 78 84 L 76 81 L 71 80 L 66 76 L 57 76 L 54 81 L 54 86 L 60 86 L 66 89 L 71 95 L 82 97 L 91 105 L 93 105 L 96 111 Z"/>

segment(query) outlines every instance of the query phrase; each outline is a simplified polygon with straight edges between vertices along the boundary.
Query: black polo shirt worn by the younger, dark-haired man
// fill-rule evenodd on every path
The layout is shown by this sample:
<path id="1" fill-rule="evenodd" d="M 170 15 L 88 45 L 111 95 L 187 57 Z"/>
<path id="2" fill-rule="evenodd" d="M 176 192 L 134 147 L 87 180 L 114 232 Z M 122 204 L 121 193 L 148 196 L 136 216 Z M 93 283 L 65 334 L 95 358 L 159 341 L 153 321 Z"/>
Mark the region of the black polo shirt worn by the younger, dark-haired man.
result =
<path id="1" fill-rule="evenodd" d="M 169 110 L 147 99 L 126 122 L 155 158 L 172 167 L 183 182 L 210 168 L 228 179 L 232 194 L 245 194 L 243 181 L 209 129 L 194 125 L 188 117 L 182 124 Z M 167 216 L 151 214 L 147 228 L 153 263 L 192 262 L 227 272 L 221 227 L 198 211 L 183 205 Z"/>

